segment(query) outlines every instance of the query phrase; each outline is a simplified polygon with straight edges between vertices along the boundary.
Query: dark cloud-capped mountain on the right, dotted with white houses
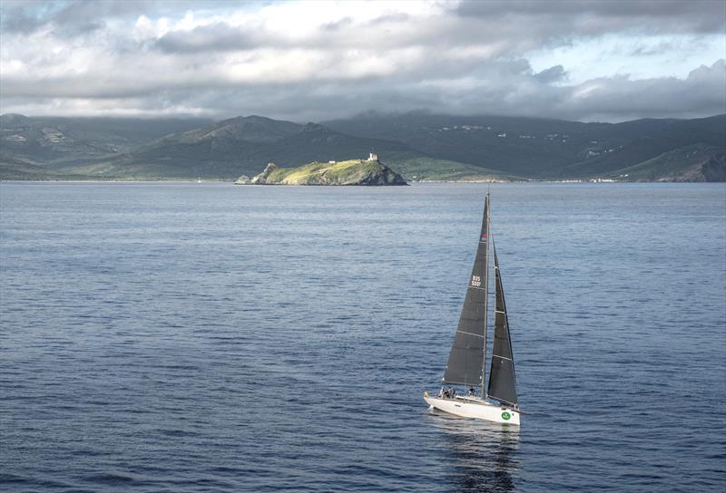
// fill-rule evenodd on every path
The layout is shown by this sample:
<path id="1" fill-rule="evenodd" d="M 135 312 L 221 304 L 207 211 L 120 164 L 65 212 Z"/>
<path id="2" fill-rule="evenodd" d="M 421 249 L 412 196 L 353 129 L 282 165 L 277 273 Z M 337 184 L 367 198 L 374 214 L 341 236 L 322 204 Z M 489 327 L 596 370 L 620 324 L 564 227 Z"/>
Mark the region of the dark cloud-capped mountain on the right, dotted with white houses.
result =
<path id="1" fill-rule="evenodd" d="M 400 115 L 371 112 L 325 125 L 368 138 L 387 136 L 437 159 L 534 179 L 601 176 L 699 143 L 726 148 L 726 115 L 582 123 L 422 111 Z"/>

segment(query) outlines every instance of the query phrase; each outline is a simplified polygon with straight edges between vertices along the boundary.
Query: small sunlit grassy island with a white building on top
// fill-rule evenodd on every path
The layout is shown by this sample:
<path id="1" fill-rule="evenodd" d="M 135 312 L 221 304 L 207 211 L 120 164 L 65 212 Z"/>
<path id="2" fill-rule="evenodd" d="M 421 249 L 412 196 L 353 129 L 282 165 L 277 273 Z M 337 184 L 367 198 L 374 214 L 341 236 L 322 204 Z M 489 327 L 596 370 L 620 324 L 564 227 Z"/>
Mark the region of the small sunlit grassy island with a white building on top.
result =
<path id="1" fill-rule="evenodd" d="M 252 179 L 242 176 L 235 185 L 407 185 L 401 175 L 370 153 L 368 160 L 313 161 L 299 168 L 269 163 Z"/>

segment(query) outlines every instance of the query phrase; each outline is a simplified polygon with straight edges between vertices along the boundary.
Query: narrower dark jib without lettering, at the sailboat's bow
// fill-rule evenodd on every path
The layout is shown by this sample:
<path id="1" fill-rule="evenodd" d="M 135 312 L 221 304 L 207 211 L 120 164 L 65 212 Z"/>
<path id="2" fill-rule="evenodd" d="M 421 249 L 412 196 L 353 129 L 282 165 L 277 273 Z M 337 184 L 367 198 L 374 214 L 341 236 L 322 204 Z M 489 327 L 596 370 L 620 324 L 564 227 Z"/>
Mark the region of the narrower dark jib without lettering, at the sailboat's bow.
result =
<path id="1" fill-rule="evenodd" d="M 494 247 L 495 276 L 495 312 L 494 312 L 494 347 L 492 348 L 492 366 L 489 371 L 489 388 L 487 394 L 496 401 L 517 405 L 515 359 L 512 355 L 512 340 L 509 336 L 509 320 L 506 316 L 505 291 L 502 287 L 502 275 L 499 272 L 499 260 Z"/>

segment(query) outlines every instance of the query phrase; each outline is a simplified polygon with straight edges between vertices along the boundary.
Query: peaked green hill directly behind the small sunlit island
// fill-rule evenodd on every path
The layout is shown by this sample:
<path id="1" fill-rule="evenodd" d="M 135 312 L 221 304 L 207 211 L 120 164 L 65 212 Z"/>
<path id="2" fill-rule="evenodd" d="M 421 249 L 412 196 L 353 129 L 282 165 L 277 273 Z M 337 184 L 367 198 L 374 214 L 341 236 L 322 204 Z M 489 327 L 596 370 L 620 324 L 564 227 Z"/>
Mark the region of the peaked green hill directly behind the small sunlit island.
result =
<path id="1" fill-rule="evenodd" d="M 385 156 L 394 168 L 402 164 L 408 171 L 429 179 L 452 172 L 484 174 L 482 169 L 461 163 L 438 166 L 438 160 L 401 142 L 354 137 L 317 123 L 300 125 L 260 116 L 219 121 L 154 140 L 93 164 L 64 170 L 98 177 L 233 179 L 255 175 L 268 162 L 295 167 L 311 161 L 368 156 L 372 149 Z"/>

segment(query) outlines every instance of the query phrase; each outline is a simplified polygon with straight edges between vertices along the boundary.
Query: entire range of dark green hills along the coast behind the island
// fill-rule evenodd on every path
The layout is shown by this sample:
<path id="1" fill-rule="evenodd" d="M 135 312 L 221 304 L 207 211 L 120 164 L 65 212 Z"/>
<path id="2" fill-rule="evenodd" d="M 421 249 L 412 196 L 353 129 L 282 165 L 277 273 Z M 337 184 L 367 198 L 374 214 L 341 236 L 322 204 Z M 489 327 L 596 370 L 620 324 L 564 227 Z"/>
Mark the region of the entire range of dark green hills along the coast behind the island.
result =
<path id="1" fill-rule="evenodd" d="M 372 149 L 407 179 L 713 181 L 726 179 L 726 115 L 583 123 L 368 112 L 304 125 L 0 116 L 2 179 L 235 179 L 268 162 L 293 167 Z"/>

